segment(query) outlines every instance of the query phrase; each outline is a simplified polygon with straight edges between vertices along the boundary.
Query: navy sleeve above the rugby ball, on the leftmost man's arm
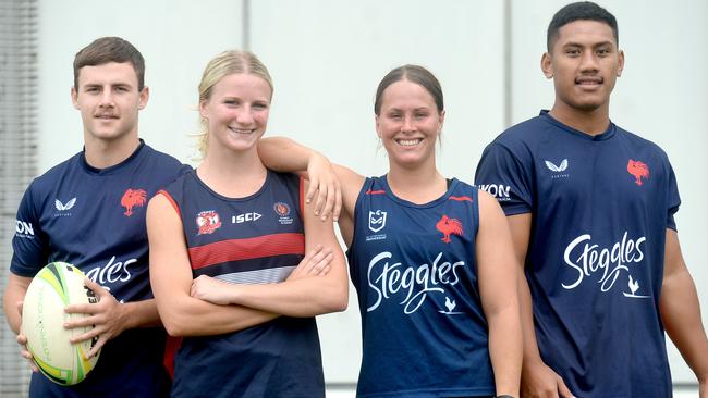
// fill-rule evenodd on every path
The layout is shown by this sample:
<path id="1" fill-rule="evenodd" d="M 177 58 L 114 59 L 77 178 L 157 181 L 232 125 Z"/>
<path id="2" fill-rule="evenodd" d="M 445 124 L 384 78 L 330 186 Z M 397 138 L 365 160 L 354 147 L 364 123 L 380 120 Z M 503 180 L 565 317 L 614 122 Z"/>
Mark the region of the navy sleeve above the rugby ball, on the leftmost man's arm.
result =
<path id="1" fill-rule="evenodd" d="M 17 209 L 10 271 L 20 276 L 35 276 L 48 261 L 47 241 L 48 238 L 39 224 L 30 185 L 22 197 Z"/>

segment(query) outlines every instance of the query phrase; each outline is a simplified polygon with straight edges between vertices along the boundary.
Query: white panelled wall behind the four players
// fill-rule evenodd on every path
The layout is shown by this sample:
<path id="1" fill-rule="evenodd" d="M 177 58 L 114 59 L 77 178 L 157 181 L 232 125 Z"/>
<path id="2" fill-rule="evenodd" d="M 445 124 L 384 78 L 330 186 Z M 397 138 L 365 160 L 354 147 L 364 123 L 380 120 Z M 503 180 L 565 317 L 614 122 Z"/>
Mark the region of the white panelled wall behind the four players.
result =
<path id="1" fill-rule="evenodd" d="M 505 98 L 503 1 L 257 0 L 251 1 L 251 49 L 268 65 L 276 94 L 269 134 L 288 135 L 362 174 L 382 174 L 373 100 L 392 67 L 418 63 L 442 83 L 447 122 L 439 165 L 472 181 L 483 148 L 503 128 L 505 101 L 514 123 L 552 104 L 552 84 L 539 71 L 546 27 L 565 1 L 512 4 L 512 96 Z M 612 119 L 669 153 L 683 206 L 678 215 L 686 262 L 699 290 L 708 271 L 699 253 L 708 241 L 708 4 L 704 0 L 607 0 L 620 23 L 626 67 Z M 229 0 L 121 2 L 39 0 L 38 169 L 82 147 L 78 112 L 70 101 L 71 64 L 99 36 L 133 42 L 146 58 L 150 102 L 141 136 L 184 162 L 197 130 L 196 86 L 208 60 L 242 45 L 242 2 Z M 708 308 L 708 295 L 701 296 Z M 324 316 L 320 335 L 328 382 L 354 382 L 361 357 L 356 300 Z M 708 318 L 706 318 L 708 320 Z M 675 382 L 694 381 L 672 351 Z"/>

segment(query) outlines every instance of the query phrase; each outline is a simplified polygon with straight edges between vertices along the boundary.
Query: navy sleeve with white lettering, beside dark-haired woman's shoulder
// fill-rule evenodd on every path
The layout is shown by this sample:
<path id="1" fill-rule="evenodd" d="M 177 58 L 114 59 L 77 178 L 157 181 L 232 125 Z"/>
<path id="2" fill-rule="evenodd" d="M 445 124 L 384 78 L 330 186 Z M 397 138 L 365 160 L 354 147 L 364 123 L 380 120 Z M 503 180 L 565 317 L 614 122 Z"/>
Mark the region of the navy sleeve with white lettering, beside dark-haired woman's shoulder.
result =
<path id="1" fill-rule="evenodd" d="M 475 185 L 497 198 L 506 215 L 530 213 L 534 196 L 528 174 L 506 147 L 491 142 L 477 165 Z"/>

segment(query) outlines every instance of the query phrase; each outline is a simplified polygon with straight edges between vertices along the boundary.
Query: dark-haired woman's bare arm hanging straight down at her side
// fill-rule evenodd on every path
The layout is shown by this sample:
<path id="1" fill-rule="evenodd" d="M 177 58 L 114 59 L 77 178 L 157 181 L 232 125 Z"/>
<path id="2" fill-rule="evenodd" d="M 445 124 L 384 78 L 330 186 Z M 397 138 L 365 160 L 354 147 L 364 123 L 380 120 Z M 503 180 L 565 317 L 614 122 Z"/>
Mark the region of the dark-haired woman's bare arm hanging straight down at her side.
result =
<path id="1" fill-rule="evenodd" d="M 479 192 L 476 238 L 481 304 L 489 323 L 489 356 L 497 394 L 518 397 L 522 366 L 522 326 L 516 281 L 518 265 L 511 234 L 497 200 Z"/>

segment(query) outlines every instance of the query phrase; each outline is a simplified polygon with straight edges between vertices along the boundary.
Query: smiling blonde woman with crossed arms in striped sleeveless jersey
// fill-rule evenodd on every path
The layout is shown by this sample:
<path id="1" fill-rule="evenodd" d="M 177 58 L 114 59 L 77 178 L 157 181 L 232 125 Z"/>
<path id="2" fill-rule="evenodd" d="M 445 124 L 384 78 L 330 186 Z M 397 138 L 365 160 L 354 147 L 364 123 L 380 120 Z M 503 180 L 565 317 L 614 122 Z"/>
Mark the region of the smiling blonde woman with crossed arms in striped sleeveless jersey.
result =
<path id="1" fill-rule="evenodd" d="M 211 60 L 199 84 L 204 161 L 148 206 L 158 310 L 182 337 L 174 397 L 325 396 L 314 316 L 346 308 L 344 254 L 303 179 L 258 157 L 272 92 L 254 54 Z"/>

